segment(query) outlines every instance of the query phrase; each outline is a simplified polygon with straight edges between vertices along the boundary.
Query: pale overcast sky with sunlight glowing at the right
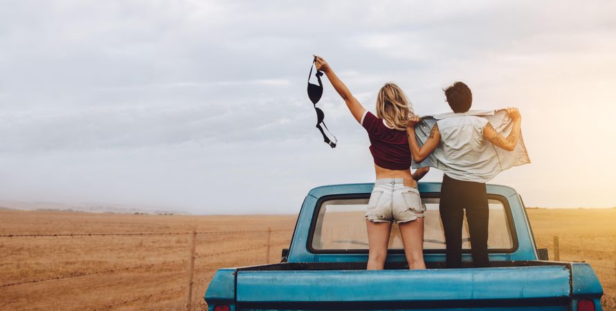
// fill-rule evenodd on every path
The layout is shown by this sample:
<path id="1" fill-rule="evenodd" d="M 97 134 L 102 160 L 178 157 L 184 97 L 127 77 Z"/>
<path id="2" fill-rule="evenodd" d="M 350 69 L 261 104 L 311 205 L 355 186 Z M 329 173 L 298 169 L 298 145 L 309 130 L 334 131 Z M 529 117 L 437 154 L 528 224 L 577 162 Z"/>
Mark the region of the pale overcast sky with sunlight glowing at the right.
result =
<path id="1" fill-rule="evenodd" d="M 315 53 L 371 111 L 389 81 L 422 115 L 458 80 L 473 109 L 518 106 L 532 164 L 492 182 L 616 206 L 614 1 L 0 3 L 0 200 L 295 213 L 312 187 L 372 182 L 329 82 L 338 147 L 314 127 Z"/>

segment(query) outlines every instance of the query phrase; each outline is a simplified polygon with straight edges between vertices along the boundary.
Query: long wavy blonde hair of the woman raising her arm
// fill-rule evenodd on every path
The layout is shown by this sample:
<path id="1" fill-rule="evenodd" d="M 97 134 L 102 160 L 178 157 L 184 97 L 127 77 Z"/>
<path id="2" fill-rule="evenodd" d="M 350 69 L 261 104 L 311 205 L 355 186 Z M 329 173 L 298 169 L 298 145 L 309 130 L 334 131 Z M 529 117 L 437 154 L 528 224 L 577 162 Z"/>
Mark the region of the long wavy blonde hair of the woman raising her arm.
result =
<path id="1" fill-rule="evenodd" d="M 413 106 L 399 86 L 386 83 L 377 95 L 377 117 L 399 131 L 406 131 L 406 121 L 413 114 Z"/>

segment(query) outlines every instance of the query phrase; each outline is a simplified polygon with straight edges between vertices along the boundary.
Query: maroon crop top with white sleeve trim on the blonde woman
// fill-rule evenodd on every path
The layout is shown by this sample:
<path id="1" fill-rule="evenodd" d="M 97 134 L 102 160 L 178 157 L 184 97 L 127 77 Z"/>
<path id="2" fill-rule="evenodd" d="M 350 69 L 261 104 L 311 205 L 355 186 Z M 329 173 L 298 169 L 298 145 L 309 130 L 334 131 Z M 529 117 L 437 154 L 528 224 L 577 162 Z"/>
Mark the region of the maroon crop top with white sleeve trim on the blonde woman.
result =
<path id="1" fill-rule="evenodd" d="M 370 111 L 366 111 L 361 126 L 368 131 L 374 164 L 385 169 L 410 168 L 411 154 L 406 131 L 390 129 L 383 119 L 375 117 Z"/>

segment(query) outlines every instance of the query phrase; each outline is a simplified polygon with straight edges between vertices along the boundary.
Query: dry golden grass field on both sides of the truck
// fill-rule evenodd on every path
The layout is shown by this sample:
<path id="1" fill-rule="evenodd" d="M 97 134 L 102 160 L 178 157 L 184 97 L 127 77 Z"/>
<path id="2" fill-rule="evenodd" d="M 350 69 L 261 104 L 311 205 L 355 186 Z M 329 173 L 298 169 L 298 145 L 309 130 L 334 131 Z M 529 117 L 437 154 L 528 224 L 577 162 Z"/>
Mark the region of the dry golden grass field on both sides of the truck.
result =
<path id="1" fill-rule="evenodd" d="M 559 236 L 563 261 L 588 261 L 604 290 L 616 296 L 616 209 L 529 209 L 538 247 Z M 295 215 L 155 216 L 0 210 L 0 234 L 176 233 L 197 235 L 194 309 L 219 267 L 269 261 L 291 238 Z M 152 236 L 44 236 L 0 238 L 0 310 L 183 310 L 188 285 L 189 234 Z M 165 263 L 158 265 L 158 263 Z M 600 267 L 599 267 L 600 266 Z M 129 267 L 126 270 L 118 270 Z M 88 274 L 90 272 L 102 272 Z M 87 274 L 75 276 L 80 274 Z M 57 276 L 73 276 L 55 279 Z M 616 310 L 604 301 L 604 310 Z"/>

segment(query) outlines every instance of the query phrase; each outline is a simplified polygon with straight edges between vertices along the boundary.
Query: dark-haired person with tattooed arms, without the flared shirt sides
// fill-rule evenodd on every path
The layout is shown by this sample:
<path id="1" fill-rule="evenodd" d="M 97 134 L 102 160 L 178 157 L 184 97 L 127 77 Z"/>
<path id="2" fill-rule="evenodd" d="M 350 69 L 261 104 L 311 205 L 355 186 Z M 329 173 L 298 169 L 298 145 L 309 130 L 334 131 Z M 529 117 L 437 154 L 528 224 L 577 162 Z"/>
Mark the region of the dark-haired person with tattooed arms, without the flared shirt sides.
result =
<path id="1" fill-rule="evenodd" d="M 473 95 L 469 86 L 455 82 L 444 89 L 449 106 L 456 114 L 439 120 L 434 124 L 426 142 L 419 147 L 415 137 L 415 125 L 420 121 L 417 115 L 409 118 L 407 124 L 408 144 L 413 160 L 422 162 L 439 145 L 450 161 L 455 162 L 458 173 L 455 178 L 443 175 L 440 216 L 443 223 L 446 243 L 447 267 L 462 266 L 462 223 L 464 210 L 469 223 L 471 254 L 474 267 L 488 267 L 488 199 L 486 185 L 480 176 L 473 176 L 472 167 L 482 158 L 484 144 L 490 143 L 507 151 L 513 151 L 520 137 L 522 117 L 516 108 L 508 108 L 507 113 L 514 126 L 507 138 L 498 133 L 484 118 L 466 115 L 471 109 Z M 459 115 L 458 115 L 459 114 Z M 468 173 L 464 174 L 464 168 Z"/>

